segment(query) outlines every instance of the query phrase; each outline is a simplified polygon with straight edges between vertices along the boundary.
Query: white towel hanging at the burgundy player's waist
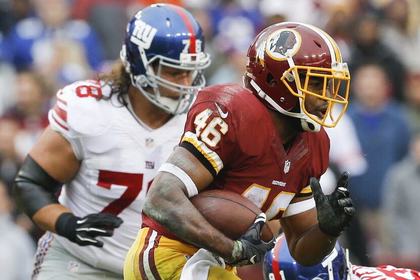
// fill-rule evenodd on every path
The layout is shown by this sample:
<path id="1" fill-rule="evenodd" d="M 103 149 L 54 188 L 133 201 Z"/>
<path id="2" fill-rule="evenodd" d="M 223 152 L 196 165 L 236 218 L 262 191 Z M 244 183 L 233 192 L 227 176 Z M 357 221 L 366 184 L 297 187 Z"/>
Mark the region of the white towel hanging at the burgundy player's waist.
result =
<path id="1" fill-rule="evenodd" d="M 207 279 L 211 266 L 226 268 L 225 260 L 212 252 L 200 249 L 185 263 L 180 280 Z"/>

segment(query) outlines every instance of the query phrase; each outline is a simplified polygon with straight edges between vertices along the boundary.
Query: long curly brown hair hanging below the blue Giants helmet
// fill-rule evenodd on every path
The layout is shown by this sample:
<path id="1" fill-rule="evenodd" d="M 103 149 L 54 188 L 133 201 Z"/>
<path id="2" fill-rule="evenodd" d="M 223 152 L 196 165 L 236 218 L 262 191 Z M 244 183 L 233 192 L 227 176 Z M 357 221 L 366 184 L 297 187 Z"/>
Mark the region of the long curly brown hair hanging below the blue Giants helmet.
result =
<path id="1" fill-rule="evenodd" d="M 127 106 L 127 101 L 125 101 L 124 96 L 128 94 L 131 79 L 120 60 L 115 61 L 107 73 L 99 73 L 98 79 L 104 81 L 105 84 L 111 87 L 109 97 L 102 96 L 102 99 L 110 100 L 113 95 L 117 95 L 119 103 Z"/>

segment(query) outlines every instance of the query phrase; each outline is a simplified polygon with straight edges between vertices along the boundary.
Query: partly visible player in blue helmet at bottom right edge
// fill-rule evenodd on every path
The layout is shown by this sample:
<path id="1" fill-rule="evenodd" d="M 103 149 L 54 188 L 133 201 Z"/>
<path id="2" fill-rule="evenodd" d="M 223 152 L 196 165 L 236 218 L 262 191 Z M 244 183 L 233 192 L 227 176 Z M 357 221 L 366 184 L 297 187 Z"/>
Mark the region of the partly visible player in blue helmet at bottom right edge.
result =
<path id="1" fill-rule="evenodd" d="M 264 258 L 265 280 L 419 280 L 420 272 L 392 265 L 366 267 L 351 264 L 349 251 L 335 243 L 332 252 L 317 265 L 305 267 L 290 256 L 284 234 Z"/>

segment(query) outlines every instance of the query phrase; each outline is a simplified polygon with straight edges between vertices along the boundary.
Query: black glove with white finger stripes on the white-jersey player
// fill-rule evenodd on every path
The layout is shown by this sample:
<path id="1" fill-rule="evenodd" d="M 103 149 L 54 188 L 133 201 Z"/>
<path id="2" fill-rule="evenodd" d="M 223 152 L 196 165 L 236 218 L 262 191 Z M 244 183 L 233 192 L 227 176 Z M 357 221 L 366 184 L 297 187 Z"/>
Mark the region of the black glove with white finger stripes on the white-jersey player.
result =
<path id="1" fill-rule="evenodd" d="M 109 213 L 89 214 L 83 218 L 72 213 L 63 213 L 56 222 L 57 234 L 80 246 L 104 246 L 102 241 L 96 240 L 98 236 L 112 236 L 113 229 L 120 226 L 121 218 Z"/>

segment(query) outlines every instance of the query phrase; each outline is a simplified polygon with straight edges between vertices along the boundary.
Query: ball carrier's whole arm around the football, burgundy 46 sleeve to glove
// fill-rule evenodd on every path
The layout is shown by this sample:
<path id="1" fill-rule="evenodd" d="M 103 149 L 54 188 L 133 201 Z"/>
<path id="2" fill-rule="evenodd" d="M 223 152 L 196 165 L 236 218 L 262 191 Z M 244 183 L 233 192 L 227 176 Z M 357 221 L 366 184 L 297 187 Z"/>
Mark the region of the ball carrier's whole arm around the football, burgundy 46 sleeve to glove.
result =
<path id="1" fill-rule="evenodd" d="M 181 239 L 220 255 L 232 265 L 245 265 L 261 261 L 274 247 L 274 240 L 261 241 L 265 214 L 233 241 L 209 224 L 189 200 L 204 190 L 238 152 L 232 113 L 220 106 L 202 102 L 190 109 L 181 147 L 159 168 L 143 211 Z"/>

